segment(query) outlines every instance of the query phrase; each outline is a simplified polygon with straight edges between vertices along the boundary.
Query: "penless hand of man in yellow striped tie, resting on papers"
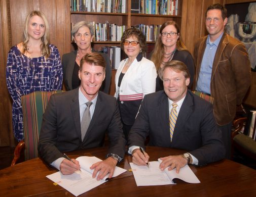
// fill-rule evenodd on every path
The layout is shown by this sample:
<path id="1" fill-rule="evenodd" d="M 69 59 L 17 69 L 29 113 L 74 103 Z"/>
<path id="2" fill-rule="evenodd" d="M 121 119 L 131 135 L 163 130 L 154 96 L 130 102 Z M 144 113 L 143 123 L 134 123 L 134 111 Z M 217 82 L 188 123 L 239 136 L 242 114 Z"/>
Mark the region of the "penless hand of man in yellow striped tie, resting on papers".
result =
<path id="1" fill-rule="evenodd" d="M 188 160 L 181 155 L 162 157 L 160 159 L 162 160 L 162 163 L 160 164 L 159 168 L 162 171 L 169 166 L 168 170 L 176 168 L 176 173 L 179 173 L 180 168 L 186 166 L 188 163 Z"/>

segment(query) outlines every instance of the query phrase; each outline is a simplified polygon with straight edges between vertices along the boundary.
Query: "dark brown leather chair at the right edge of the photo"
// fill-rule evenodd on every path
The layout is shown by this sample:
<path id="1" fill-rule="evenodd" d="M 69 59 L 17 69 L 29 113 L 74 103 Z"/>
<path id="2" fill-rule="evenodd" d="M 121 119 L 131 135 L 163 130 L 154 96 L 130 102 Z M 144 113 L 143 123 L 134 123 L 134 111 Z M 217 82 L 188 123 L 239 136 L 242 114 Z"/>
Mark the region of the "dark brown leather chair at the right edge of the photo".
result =
<path id="1" fill-rule="evenodd" d="M 254 141 L 248 135 L 243 134 L 241 129 L 244 127 L 247 118 L 238 118 L 233 121 L 233 127 L 235 128 L 232 132 L 232 152 L 231 156 L 234 155 L 234 151 L 238 151 L 245 156 L 256 161 L 256 141 Z"/>

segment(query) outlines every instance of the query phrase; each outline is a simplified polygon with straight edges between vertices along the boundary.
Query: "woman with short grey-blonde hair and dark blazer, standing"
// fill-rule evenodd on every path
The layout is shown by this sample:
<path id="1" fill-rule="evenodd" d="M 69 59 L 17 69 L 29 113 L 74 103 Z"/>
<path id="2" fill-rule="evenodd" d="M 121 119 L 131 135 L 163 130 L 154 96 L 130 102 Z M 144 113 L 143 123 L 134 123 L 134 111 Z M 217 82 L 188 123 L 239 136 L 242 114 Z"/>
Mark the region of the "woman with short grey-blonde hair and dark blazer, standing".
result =
<path id="1" fill-rule="evenodd" d="M 75 89 L 80 86 L 80 79 L 78 77 L 78 71 L 80 67 L 80 60 L 87 53 L 96 52 L 91 46 L 91 42 L 94 35 L 93 26 L 85 21 L 80 21 L 74 25 L 71 31 L 74 41 L 78 46 L 78 50 L 64 54 L 62 57 L 63 65 L 63 81 L 66 90 Z M 106 62 L 106 77 L 103 81 L 100 90 L 108 93 L 111 82 L 111 64 L 109 57 L 101 52 Z"/>

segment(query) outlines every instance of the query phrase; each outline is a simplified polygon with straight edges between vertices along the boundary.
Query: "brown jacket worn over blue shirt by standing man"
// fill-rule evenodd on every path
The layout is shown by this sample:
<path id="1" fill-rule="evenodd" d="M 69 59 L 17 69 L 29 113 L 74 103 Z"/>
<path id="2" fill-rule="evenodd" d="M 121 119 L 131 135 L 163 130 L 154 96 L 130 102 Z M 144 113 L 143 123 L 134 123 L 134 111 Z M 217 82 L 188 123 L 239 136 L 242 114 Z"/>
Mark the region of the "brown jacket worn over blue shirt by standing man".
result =
<path id="1" fill-rule="evenodd" d="M 196 89 L 207 36 L 195 43 L 196 73 L 193 89 Z M 224 33 L 214 57 L 211 73 L 213 112 L 218 125 L 233 121 L 236 106 L 243 101 L 251 81 L 250 61 L 242 42 Z"/>

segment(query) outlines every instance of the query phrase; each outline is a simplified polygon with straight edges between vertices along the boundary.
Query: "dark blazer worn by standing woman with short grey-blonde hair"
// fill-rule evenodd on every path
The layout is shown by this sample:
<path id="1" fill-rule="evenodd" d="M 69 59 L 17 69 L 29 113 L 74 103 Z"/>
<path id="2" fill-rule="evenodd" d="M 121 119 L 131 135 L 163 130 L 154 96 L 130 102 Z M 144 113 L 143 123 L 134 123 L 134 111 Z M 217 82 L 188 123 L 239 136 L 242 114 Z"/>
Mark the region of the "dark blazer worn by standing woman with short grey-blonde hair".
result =
<path id="1" fill-rule="evenodd" d="M 92 49 L 92 52 L 96 52 L 94 49 Z M 68 54 L 64 54 L 62 56 L 62 66 L 63 66 L 63 81 L 66 87 L 66 90 L 72 89 L 72 74 L 75 67 L 76 57 L 77 57 L 78 51 L 73 51 Z M 98 52 L 105 60 L 106 62 L 106 76 L 105 79 L 100 87 L 100 90 L 108 93 L 110 82 L 111 82 L 111 64 L 109 57 L 101 52 Z"/>

